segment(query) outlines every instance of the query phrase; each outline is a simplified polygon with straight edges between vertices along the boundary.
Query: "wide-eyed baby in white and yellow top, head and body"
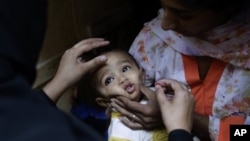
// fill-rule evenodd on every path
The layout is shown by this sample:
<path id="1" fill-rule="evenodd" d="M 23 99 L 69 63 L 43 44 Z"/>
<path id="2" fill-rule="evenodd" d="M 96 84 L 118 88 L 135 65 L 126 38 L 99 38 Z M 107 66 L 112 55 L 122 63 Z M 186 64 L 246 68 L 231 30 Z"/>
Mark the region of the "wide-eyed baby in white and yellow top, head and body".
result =
<path id="1" fill-rule="evenodd" d="M 111 107 L 110 99 L 124 96 L 131 100 L 145 104 L 147 100 L 140 92 L 140 83 L 143 80 L 143 71 L 134 58 L 126 51 L 106 51 L 108 61 L 103 66 L 93 70 L 87 77 L 87 87 L 92 100 L 99 106 Z M 86 79 L 86 78 L 85 78 Z M 167 140 L 166 129 L 159 130 L 132 130 L 125 126 L 115 110 L 111 113 L 111 122 L 108 128 L 108 140 L 130 141 L 157 141 Z"/>

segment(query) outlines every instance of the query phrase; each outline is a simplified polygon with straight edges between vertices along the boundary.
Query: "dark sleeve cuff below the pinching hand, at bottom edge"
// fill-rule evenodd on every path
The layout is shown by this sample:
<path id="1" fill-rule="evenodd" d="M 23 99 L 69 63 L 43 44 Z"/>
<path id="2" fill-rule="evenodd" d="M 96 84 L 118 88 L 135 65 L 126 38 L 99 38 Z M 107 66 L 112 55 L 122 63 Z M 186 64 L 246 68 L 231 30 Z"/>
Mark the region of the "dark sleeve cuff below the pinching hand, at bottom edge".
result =
<path id="1" fill-rule="evenodd" d="M 169 141 L 193 141 L 193 137 L 185 130 L 173 130 L 168 135 Z"/>

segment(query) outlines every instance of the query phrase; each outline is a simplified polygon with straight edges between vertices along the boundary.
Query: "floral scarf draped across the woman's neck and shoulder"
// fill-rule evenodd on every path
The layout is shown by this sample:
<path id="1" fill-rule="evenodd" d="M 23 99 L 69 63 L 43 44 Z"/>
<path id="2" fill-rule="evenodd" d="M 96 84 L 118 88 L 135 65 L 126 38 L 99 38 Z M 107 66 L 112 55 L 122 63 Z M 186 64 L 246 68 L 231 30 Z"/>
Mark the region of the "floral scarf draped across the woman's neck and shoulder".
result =
<path id="1" fill-rule="evenodd" d="M 163 17 L 163 10 L 159 11 Z M 191 56 L 210 56 L 234 66 L 250 69 L 250 11 L 232 18 L 204 34 L 203 39 L 185 37 L 175 31 L 164 31 L 161 20 L 149 23 L 151 30 L 174 50 Z"/>

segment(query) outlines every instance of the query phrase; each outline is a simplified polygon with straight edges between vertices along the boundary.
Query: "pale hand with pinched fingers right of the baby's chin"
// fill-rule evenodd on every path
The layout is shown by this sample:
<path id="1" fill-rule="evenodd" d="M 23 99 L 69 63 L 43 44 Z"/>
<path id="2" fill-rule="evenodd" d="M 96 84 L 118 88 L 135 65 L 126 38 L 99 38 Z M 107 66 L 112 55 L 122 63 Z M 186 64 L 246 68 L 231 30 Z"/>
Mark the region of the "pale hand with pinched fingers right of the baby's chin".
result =
<path id="1" fill-rule="evenodd" d="M 173 90 L 171 97 L 166 96 L 168 89 Z M 159 80 L 156 82 L 156 97 L 168 132 L 184 129 L 191 133 L 194 98 L 187 86 L 171 79 Z"/>

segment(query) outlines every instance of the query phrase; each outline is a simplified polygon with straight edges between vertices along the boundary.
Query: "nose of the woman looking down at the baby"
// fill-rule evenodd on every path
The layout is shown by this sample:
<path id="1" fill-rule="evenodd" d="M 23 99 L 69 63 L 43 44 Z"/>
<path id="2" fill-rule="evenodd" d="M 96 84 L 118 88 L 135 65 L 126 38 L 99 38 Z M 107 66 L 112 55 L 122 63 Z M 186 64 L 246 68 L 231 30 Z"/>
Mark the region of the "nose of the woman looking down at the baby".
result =
<path id="1" fill-rule="evenodd" d="M 176 17 L 165 10 L 161 26 L 164 30 L 175 30 L 177 28 Z"/>

